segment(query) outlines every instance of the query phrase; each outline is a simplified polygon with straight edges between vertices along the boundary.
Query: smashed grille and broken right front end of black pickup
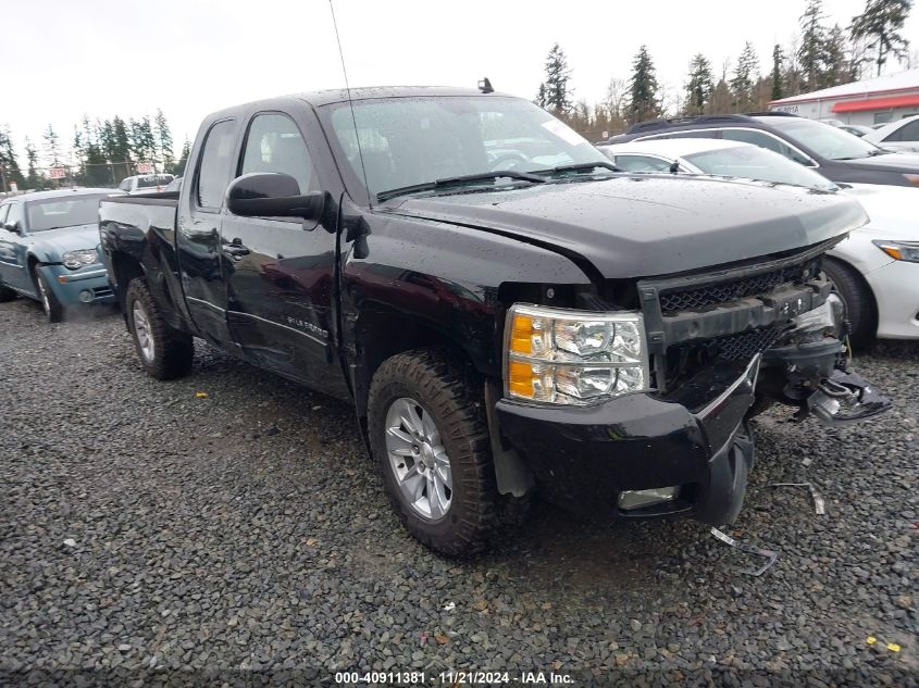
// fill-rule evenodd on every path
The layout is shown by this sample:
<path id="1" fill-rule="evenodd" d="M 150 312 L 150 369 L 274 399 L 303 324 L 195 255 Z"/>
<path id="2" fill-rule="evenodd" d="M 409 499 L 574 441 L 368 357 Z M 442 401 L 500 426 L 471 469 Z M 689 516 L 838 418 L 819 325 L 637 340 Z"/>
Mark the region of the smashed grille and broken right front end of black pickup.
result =
<path id="1" fill-rule="evenodd" d="M 890 401 L 849 368 L 843 304 L 821 272 L 835 241 L 717 273 L 643 280 L 658 389 L 718 362 L 762 355 L 750 415 L 772 402 L 829 425 L 874 416 Z"/>

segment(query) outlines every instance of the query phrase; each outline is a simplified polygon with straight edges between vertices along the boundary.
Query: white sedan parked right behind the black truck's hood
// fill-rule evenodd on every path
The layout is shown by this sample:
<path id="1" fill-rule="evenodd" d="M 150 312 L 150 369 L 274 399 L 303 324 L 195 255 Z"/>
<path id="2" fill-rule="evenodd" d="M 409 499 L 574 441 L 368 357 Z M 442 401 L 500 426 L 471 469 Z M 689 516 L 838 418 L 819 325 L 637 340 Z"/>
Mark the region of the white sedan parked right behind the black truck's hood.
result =
<path id="1" fill-rule="evenodd" d="M 877 184 L 840 188 L 778 153 L 736 141 L 672 138 L 597 148 L 628 172 L 742 177 L 855 196 L 870 222 L 833 248 L 823 262 L 845 303 L 852 338 L 919 339 L 916 189 Z"/>

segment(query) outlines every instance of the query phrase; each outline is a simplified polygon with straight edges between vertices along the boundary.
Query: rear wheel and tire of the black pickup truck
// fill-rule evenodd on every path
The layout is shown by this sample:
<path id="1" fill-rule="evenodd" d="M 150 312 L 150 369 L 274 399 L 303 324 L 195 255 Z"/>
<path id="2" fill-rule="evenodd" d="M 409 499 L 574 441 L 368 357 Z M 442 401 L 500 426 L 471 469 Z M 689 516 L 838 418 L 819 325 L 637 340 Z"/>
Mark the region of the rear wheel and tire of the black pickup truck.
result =
<path id="1" fill-rule="evenodd" d="M 191 335 L 166 323 L 142 277 L 127 286 L 125 316 L 137 356 L 151 377 L 175 379 L 189 373 L 195 358 Z"/>

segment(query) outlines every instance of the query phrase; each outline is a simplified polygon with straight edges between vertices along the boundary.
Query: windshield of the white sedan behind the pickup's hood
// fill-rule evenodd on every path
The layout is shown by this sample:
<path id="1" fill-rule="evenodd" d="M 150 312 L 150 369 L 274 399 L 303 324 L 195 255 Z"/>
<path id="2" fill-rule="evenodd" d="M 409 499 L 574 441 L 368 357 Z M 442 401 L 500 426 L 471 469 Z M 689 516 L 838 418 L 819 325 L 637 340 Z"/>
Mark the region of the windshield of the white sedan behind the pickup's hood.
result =
<path id="1" fill-rule="evenodd" d="M 812 170 L 758 146 L 718 148 L 683 158 L 706 174 L 793 184 L 822 191 L 836 188 L 835 184 Z"/>

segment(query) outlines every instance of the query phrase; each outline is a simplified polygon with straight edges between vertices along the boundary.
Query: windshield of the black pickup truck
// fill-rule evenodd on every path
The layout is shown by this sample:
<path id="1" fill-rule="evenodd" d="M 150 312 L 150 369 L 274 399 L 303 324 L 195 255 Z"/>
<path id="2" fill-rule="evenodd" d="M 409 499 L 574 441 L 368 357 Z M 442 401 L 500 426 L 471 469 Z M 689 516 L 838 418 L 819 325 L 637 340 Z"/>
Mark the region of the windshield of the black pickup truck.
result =
<path id="1" fill-rule="evenodd" d="M 343 167 L 350 183 L 362 186 L 363 162 L 372 196 L 496 171 L 609 164 L 581 135 L 518 98 L 372 99 L 355 102 L 353 110 L 353 121 L 348 103 L 327 105 L 323 115 L 335 133 L 336 154 L 347 161 Z"/>

